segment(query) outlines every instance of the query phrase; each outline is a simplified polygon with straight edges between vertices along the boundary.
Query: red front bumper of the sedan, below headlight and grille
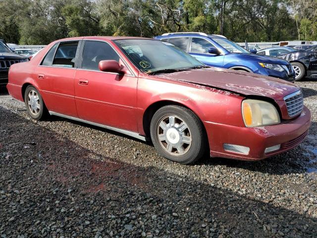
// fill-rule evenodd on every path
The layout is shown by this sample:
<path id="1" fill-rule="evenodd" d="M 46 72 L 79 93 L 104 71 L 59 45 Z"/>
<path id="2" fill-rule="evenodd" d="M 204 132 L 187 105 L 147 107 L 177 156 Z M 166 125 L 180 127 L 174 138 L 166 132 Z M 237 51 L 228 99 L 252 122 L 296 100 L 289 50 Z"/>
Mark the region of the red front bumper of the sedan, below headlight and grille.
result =
<path id="1" fill-rule="evenodd" d="M 211 157 L 249 161 L 263 160 L 296 147 L 306 138 L 310 124 L 311 113 L 306 107 L 295 119 L 263 127 L 239 127 L 204 121 Z M 224 143 L 249 147 L 249 154 L 225 151 Z M 278 144 L 281 144 L 279 150 L 264 153 L 265 148 Z"/>

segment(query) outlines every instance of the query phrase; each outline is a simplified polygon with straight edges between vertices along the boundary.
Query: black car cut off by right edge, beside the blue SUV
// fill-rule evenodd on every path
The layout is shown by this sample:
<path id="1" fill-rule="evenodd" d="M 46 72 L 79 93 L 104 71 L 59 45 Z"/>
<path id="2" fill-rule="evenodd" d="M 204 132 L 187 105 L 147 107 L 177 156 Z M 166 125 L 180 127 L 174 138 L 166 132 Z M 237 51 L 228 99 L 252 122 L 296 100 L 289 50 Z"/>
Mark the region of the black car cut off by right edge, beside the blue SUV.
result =
<path id="1" fill-rule="evenodd" d="M 288 60 L 292 64 L 296 81 L 305 76 L 317 76 L 317 45 L 306 50 L 278 56 L 278 58 Z"/>

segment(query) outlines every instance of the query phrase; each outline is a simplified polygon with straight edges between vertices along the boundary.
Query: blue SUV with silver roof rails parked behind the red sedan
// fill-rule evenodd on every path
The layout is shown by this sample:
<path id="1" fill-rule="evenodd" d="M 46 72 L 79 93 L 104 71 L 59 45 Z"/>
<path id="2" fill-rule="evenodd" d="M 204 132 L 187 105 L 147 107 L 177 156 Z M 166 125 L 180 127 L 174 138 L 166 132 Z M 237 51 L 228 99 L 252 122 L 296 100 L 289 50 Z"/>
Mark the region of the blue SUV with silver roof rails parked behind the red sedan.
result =
<path id="1" fill-rule="evenodd" d="M 295 81 L 293 67 L 288 61 L 252 54 L 221 35 L 178 32 L 165 33 L 154 39 L 171 43 L 209 66 L 244 70 L 290 82 Z"/>

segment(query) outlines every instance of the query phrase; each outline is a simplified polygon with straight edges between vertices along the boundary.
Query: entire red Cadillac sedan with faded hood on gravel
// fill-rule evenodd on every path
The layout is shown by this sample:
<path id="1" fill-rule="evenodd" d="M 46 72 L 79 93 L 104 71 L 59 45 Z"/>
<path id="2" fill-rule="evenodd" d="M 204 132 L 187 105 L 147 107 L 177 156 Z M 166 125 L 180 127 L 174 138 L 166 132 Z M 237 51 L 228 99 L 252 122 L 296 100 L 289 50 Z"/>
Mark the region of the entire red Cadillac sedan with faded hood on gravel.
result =
<path id="1" fill-rule="evenodd" d="M 35 120 L 55 115 L 141 140 L 189 164 L 261 160 L 301 143 L 311 122 L 299 87 L 208 67 L 179 48 L 136 37 L 78 37 L 13 64 L 10 95 Z"/>

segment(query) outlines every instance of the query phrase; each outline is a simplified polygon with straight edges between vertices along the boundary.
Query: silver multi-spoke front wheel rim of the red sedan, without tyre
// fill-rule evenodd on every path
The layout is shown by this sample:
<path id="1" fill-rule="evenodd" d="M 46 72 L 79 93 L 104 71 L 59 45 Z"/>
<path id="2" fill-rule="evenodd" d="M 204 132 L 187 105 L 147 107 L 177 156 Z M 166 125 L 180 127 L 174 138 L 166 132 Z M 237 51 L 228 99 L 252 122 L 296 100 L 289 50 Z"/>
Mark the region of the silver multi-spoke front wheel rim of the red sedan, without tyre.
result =
<path id="1" fill-rule="evenodd" d="M 187 153 L 192 135 L 183 119 L 170 115 L 160 119 L 157 126 L 160 146 L 169 154 L 180 156 Z"/>

